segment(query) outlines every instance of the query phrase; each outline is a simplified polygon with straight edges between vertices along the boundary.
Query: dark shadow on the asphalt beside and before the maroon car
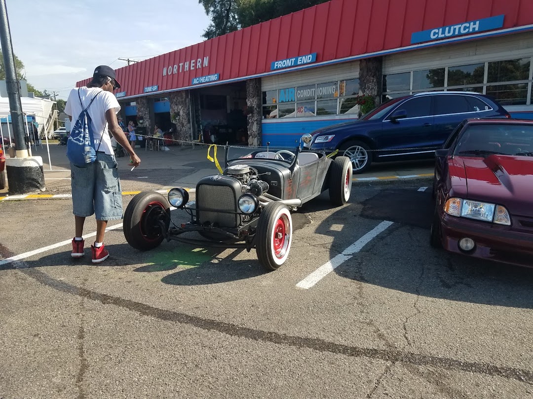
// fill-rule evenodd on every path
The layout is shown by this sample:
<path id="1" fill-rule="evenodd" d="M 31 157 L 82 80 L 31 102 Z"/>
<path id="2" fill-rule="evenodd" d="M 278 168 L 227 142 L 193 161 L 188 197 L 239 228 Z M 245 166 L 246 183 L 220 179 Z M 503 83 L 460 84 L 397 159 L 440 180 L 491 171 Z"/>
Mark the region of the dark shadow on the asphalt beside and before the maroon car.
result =
<path id="1" fill-rule="evenodd" d="M 317 234 L 334 238 L 332 259 L 364 234 L 354 237 L 350 220 L 359 214 L 360 205 L 346 205 L 317 227 Z M 533 269 L 471 259 L 430 247 L 434 209 L 430 192 L 384 189 L 362 202 L 362 206 L 359 216 L 375 220 L 372 226 L 383 220 L 394 225 L 335 269 L 338 275 L 415 295 L 533 308 Z M 332 225 L 338 220 L 344 220 L 343 227 L 335 231 Z M 353 239 L 346 241 L 346 237 Z"/>

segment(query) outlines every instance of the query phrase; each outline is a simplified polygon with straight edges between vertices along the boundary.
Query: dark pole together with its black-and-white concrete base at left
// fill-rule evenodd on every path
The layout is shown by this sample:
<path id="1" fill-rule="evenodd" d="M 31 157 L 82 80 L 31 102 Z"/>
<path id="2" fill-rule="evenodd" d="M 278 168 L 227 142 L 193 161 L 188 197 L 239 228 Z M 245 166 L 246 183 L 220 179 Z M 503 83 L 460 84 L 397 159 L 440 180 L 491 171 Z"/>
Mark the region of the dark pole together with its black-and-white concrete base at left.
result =
<path id="1" fill-rule="evenodd" d="M 6 159 L 7 181 L 10 194 L 25 194 L 35 190 L 45 190 L 43 159 L 40 156 L 29 156 L 26 135 L 24 134 L 24 114 L 20 101 L 19 81 L 11 31 L 7 20 L 7 7 L 5 0 L 0 0 L 0 44 L 4 57 L 5 83 L 9 97 L 9 109 L 15 139 L 14 158 Z"/>

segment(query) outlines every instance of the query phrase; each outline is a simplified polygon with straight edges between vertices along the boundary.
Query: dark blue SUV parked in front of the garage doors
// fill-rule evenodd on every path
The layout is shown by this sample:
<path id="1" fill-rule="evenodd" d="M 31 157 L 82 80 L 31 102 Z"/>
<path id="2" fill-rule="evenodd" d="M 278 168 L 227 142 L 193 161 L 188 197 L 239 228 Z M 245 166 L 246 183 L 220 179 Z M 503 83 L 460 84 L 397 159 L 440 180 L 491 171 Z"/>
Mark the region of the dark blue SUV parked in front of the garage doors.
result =
<path id="1" fill-rule="evenodd" d="M 394 98 L 356 121 L 312 133 L 312 149 L 350 157 L 353 173 L 372 162 L 431 158 L 464 119 L 511 118 L 490 96 L 430 92 Z"/>

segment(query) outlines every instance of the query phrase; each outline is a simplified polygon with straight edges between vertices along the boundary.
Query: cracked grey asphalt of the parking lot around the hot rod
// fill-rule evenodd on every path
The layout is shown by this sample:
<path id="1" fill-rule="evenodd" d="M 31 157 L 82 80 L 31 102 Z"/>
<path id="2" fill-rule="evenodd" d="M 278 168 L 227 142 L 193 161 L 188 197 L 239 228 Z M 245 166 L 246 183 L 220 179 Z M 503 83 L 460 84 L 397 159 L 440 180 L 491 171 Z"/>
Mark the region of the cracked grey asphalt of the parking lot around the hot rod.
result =
<path id="1" fill-rule="evenodd" d="M 531 398 L 533 269 L 431 248 L 427 185 L 305 204 L 274 272 L 255 251 L 139 252 L 120 221 L 92 265 L 70 257 L 69 200 L 2 201 L 0 397 Z"/>

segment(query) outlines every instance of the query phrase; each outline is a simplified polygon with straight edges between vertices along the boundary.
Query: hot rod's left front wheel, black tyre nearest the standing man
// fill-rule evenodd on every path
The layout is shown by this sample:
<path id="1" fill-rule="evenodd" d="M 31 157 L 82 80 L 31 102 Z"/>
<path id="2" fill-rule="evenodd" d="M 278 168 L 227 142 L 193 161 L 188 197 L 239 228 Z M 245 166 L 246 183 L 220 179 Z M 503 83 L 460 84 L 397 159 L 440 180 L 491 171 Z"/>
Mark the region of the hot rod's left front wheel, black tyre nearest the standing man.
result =
<path id="1" fill-rule="evenodd" d="M 170 223 L 170 206 L 167 199 L 154 191 L 133 197 L 124 212 L 124 237 L 136 250 L 148 251 L 164 240 L 159 221 L 166 229 Z"/>

